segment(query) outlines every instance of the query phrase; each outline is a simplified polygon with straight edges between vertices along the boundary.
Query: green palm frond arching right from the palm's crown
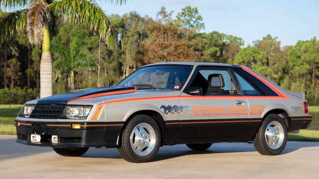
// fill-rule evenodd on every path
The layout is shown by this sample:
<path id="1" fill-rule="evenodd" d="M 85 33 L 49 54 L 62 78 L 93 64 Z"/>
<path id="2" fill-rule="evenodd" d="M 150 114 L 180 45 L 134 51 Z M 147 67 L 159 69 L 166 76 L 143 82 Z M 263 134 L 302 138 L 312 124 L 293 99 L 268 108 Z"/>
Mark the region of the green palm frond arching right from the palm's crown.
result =
<path id="1" fill-rule="evenodd" d="M 124 2 L 125 0 L 114 0 Z M 48 7 L 61 15 L 66 21 L 81 24 L 92 31 L 98 32 L 107 44 L 116 49 L 117 45 L 112 38 L 111 18 L 104 13 L 102 8 L 93 0 L 59 0 L 49 4 Z"/>

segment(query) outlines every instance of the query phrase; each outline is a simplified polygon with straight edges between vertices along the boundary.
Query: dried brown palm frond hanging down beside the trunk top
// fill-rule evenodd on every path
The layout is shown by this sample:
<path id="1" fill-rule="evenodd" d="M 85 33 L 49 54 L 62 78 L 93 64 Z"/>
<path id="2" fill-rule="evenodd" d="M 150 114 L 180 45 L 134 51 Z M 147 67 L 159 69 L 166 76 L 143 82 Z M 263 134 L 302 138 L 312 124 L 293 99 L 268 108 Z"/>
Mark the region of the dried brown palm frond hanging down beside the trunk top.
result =
<path id="1" fill-rule="evenodd" d="M 27 34 L 31 45 L 40 45 L 43 39 L 43 26 L 49 19 L 49 12 L 46 2 L 40 0 L 32 2 L 26 15 Z"/>

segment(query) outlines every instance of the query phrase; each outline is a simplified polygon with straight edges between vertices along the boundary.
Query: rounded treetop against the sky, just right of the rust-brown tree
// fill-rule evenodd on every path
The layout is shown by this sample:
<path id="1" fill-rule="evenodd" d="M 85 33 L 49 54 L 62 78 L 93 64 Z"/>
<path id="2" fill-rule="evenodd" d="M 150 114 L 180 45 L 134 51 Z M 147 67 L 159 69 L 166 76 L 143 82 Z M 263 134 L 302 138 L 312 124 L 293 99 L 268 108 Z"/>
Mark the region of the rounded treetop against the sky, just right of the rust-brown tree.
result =
<path id="1" fill-rule="evenodd" d="M 198 14 L 197 7 L 186 6 L 176 15 L 176 21 L 184 28 L 195 29 L 199 31 L 205 28 L 205 24 L 201 15 Z"/>

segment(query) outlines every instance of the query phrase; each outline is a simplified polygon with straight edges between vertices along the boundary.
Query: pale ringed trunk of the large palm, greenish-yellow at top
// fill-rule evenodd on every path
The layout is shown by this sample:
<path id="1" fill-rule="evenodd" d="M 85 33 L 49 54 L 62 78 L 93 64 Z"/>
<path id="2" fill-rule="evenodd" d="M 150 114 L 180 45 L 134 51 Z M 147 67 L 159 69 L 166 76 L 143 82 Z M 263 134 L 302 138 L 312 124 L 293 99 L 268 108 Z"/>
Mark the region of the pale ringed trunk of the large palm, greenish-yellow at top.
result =
<path id="1" fill-rule="evenodd" d="M 44 26 L 40 62 L 40 97 L 43 98 L 50 95 L 52 95 L 52 58 L 49 31 L 46 26 Z"/>

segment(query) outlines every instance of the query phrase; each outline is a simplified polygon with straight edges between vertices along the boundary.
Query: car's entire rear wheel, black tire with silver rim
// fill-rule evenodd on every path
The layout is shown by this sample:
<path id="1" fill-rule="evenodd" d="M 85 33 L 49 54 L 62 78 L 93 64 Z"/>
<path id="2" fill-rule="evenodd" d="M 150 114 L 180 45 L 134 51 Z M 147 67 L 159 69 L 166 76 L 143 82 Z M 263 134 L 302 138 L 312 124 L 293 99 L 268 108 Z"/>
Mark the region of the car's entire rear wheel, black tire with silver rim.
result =
<path id="1" fill-rule="evenodd" d="M 255 139 L 255 149 L 262 155 L 279 155 L 287 144 L 287 125 L 277 114 L 269 114 L 260 126 Z"/>

